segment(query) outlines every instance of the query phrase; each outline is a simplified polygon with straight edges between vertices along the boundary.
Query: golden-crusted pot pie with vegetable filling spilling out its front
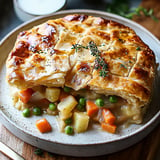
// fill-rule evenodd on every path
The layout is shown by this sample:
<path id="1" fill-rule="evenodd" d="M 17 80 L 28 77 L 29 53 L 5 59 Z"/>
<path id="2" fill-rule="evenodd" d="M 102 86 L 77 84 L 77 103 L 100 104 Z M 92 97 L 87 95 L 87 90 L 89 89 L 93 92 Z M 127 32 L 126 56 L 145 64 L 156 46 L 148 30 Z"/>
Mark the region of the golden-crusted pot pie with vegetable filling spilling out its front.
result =
<path id="1" fill-rule="evenodd" d="M 153 51 L 129 27 L 68 15 L 21 32 L 7 62 L 14 106 L 57 116 L 60 131 L 139 124 L 151 100 Z M 38 114 L 35 114 L 38 115 Z"/>

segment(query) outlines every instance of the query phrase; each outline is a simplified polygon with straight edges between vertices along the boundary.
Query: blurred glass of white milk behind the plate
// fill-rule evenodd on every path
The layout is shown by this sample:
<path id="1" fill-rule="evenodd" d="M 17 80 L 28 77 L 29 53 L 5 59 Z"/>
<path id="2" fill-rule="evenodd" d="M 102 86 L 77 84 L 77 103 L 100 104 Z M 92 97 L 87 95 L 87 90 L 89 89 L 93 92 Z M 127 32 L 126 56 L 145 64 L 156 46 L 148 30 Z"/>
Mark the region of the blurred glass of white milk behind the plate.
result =
<path id="1" fill-rule="evenodd" d="M 66 0 L 13 0 L 16 15 L 27 21 L 64 9 Z"/>

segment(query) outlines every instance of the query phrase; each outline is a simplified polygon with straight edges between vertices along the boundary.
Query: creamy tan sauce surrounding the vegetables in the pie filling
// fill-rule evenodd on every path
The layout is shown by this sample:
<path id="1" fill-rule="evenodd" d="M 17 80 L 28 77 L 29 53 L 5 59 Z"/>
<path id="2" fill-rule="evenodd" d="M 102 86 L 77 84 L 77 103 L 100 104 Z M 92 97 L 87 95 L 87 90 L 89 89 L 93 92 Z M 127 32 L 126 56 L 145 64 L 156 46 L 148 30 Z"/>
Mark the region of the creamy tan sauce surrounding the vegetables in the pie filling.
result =
<path id="1" fill-rule="evenodd" d="M 15 107 L 17 109 L 23 110 L 24 108 L 30 108 L 31 110 L 35 107 L 38 106 L 42 109 L 43 113 L 47 113 L 50 115 L 58 115 L 58 120 L 59 120 L 59 128 L 60 131 L 63 132 L 65 123 L 64 119 L 61 117 L 61 112 L 59 110 L 51 111 L 48 106 L 51 103 L 45 96 L 45 91 L 46 87 L 45 86 L 36 86 L 32 88 L 35 92 L 33 93 L 32 97 L 30 98 L 29 102 L 27 104 L 22 103 L 22 101 L 19 100 L 17 97 L 16 91 L 14 94 L 14 99 L 15 99 Z M 61 89 L 61 88 L 59 88 Z M 61 89 L 63 91 L 63 89 Z M 79 91 L 74 91 L 71 90 L 68 95 L 72 95 L 75 98 L 78 97 L 85 97 L 86 100 L 90 100 L 95 102 L 97 98 L 102 98 L 104 100 L 104 106 L 100 107 L 98 112 L 95 113 L 90 117 L 90 126 L 97 123 L 101 124 L 104 122 L 104 118 L 102 115 L 103 109 L 109 109 L 111 113 L 116 117 L 115 120 L 115 125 L 121 126 L 122 128 L 128 127 L 130 124 L 140 124 L 142 122 L 142 114 L 141 114 L 141 108 L 136 107 L 136 106 L 131 106 L 127 103 L 126 100 L 124 100 L 121 97 L 117 96 L 117 103 L 111 103 L 109 102 L 109 96 L 105 96 L 102 94 L 97 94 L 93 91 L 90 91 L 89 89 L 82 89 Z M 59 104 L 59 100 L 54 102 L 56 105 Z M 79 110 L 75 107 L 72 110 L 71 115 L 74 112 L 79 112 Z M 85 111 L 84 111 L 85 112 Z M 60 118 L 61 117 L 61 118 Z"/>

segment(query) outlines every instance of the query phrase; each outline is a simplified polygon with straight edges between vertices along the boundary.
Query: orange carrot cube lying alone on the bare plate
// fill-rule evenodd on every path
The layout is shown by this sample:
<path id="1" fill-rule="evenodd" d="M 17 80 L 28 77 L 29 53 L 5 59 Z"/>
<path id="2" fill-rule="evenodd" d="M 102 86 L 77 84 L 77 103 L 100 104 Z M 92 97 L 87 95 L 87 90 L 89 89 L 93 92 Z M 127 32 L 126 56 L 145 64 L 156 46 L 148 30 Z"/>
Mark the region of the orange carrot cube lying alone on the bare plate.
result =
<path id="1" fill-rule="evenodd" d="M 41 133 L 50 132 L 52 130 L 51 125 L 45 118 L 37 120 L 36 127 Z"/>

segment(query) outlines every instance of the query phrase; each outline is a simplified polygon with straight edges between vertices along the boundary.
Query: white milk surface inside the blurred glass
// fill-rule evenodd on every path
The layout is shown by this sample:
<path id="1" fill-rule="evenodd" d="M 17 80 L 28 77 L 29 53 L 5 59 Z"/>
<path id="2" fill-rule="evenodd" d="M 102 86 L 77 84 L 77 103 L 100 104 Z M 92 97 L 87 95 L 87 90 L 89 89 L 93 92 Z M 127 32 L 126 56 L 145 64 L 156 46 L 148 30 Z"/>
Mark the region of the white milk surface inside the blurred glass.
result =
<path id="1" fill-rule="evenodd" d="M 59 10 L 65 4 L 65 0 L 18 0 L 18 4 L 28 13 L 45 15 Z"/>

